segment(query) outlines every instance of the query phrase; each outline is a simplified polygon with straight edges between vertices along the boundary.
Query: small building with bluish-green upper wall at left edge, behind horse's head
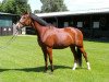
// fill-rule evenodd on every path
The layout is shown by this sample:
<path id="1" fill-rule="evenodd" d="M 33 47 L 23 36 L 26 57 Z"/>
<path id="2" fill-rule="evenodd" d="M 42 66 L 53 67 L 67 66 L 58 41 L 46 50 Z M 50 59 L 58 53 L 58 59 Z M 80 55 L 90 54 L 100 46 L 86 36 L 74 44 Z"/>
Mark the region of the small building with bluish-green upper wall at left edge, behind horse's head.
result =
<path id="1" fill-rule="evenodd" d="M 17 17 L 15 14 L 0 12 L 0 36 L 13 34 L 13 23 Z"/>

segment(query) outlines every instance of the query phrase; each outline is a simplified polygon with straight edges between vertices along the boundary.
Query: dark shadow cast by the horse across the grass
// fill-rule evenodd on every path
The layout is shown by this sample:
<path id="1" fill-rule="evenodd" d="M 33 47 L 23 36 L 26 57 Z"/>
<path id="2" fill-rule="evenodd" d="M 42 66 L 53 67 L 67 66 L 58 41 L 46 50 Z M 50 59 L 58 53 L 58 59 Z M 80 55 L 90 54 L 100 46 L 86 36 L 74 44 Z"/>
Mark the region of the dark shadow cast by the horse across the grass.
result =
<path id="1" fill-rule="evenodd" d="M 55 70 L 57 69 L 72 69 L 72 68 L 65 66 L 55 66 Z M 23 69 L 0 69 L 0 72 L 10 71 L 10 70 L 17 70 L 17 71 L 25 71 L 25 72 L 44 72 L 45 67 L 23 68 Z M 48 70 L 50 70 L 50 66 L 48 67 Z"/>

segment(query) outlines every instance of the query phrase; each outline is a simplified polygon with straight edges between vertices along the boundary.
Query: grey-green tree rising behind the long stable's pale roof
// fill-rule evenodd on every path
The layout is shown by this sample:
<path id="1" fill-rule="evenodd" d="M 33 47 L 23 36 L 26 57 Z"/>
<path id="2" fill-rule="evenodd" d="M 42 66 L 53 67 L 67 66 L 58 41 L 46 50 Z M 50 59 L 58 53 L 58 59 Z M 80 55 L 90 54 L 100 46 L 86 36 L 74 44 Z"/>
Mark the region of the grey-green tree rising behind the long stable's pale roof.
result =
<path id="1" fill-rule="evenodd" d="M 40 0 L 43 3 L 41 12 L 66 11 L 63 0 Z"/>

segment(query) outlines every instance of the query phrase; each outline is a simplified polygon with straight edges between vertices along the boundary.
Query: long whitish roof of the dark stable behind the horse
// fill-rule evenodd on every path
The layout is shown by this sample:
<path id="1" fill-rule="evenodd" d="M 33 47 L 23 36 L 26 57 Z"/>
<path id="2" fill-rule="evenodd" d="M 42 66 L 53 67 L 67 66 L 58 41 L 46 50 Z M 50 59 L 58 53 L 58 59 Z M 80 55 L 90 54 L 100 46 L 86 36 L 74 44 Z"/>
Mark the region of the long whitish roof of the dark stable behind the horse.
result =
<path id="1" fill-rule="evenodd" d="M 82 14 L 96 14 L 96 13 L 109 13 L 109 8 L 89 9 L 89 10 L 80 10 L 80 11 L 51 12 L 51 13 L 37 13 L 36 15 L 40 17 L 50 17 L 50 16 L 82 15 Z"/>

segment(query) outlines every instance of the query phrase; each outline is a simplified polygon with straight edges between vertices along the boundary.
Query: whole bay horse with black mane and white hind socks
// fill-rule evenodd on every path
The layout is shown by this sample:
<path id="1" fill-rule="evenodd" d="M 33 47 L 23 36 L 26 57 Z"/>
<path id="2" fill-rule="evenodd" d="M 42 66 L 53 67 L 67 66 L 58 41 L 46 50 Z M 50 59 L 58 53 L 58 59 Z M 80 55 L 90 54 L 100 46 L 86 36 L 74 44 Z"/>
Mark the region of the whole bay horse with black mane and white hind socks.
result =
<path id="1" fill-rule="evenodd" d="M 21 20 L 16 23 L 17 30 L 21 30 L 24 26 L 32 26 L 36 30 L 37 40 L 44 52 L 45 71 L 48 70 L 48 57 L 51 72 L 53 71 L 52 49 L 63 49 L 66 47 L 70 47 L 74 55 L 73 70 L 76 69 L 77 63 L 82 66 L 82 54 L 87 63 L 87 69 L 90 70 L 87 54 L 83 46 L 83 34 L 80 30 L 75 27 L 55 27 L 33 13 L 23 14 Z"/>

